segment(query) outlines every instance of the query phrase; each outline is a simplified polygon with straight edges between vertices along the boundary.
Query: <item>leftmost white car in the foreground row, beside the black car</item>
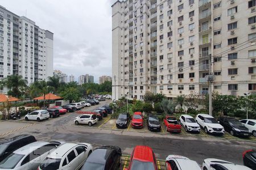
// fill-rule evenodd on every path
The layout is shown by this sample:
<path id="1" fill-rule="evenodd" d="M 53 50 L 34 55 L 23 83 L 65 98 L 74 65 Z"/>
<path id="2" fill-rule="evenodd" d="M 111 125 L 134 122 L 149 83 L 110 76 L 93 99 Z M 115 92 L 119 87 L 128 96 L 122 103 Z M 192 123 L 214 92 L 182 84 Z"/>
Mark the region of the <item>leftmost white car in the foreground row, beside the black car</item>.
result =
<path id="1" fill-rule="evenodd" d="M 0 162 L 0 169 L 34 170 L 46 156 L 59 146 L 57 142 L 33 142 L 12 152 Z"/>

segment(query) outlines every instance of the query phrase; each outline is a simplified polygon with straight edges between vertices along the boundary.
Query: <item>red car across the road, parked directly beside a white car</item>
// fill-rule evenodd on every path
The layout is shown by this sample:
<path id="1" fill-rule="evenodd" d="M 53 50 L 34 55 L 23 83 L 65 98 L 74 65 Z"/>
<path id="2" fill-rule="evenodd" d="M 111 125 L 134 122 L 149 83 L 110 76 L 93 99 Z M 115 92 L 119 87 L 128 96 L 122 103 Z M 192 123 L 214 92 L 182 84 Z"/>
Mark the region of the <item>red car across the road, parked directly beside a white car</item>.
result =
<path id="1" fill-rule="evenodd" d="M 174 116 L 166 116 L 164 118 L 164 125 L 166 125 L 167 131 L 170 132 L 181 132 L 181 125 L 177 122 Z"/>

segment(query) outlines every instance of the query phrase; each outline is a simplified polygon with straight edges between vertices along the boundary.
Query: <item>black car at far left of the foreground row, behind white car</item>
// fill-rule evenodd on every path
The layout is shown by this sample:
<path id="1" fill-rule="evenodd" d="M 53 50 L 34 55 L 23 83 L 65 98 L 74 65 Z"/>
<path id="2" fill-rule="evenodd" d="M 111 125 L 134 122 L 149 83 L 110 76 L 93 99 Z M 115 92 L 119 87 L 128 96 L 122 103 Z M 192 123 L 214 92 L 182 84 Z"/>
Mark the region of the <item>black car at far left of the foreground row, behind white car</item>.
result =
<path id="1" fill-rule="evenodd" d="M 18 135 L 13 138 L 0 141 L 0 162 L 18 148 L 36 142 L 32 135 Z"/>

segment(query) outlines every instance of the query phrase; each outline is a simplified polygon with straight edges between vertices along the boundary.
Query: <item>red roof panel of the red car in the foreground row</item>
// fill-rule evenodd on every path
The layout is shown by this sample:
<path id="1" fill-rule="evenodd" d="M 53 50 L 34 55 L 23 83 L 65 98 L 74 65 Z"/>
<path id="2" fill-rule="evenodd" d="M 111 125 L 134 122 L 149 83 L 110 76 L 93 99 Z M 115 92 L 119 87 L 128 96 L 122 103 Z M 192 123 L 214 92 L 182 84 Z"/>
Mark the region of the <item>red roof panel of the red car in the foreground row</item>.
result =
<path id="1" fill-rule="evenodd" d="M 152 148 L 148 146 L 135 146 L 133 159 L 154 162 Z"/>

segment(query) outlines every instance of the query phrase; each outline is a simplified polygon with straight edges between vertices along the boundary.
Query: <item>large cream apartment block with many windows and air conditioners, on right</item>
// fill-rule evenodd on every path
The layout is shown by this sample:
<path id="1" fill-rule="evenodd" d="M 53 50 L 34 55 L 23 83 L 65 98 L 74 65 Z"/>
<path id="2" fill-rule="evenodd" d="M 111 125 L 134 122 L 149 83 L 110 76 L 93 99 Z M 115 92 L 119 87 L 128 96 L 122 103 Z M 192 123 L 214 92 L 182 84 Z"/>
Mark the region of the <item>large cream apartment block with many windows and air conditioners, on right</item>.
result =
<path id="1" fill-rule="evenodd" d="M 113 97 L 256 90 L 256 1 L 127 0 L 112 6 Z"/>

